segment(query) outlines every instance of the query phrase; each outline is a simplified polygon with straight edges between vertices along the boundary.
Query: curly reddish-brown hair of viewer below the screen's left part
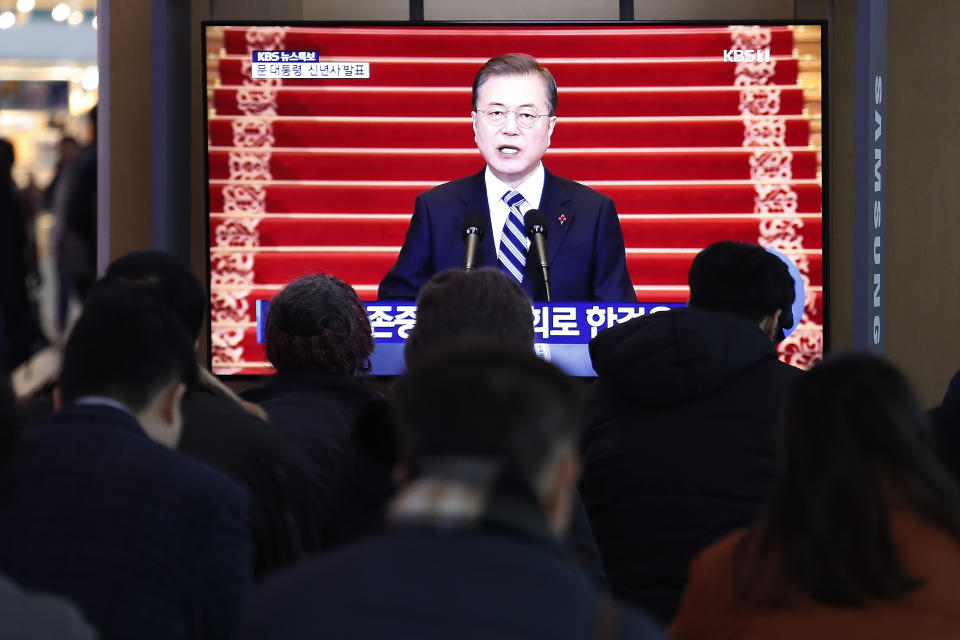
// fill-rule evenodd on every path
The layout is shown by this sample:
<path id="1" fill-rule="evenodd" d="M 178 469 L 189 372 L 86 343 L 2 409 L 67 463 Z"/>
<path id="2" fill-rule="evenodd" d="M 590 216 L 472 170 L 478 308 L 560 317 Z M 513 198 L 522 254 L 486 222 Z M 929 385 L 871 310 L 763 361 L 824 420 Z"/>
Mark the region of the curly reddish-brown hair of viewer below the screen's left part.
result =
<path id="1" fill-rule="evenodd" d="M 266 350 L 278 371 L 320 368 L 352 375 L 369 368 L 373 330 L 353 287 L 328 274 L 305 276 L 270 301 Z"/>

